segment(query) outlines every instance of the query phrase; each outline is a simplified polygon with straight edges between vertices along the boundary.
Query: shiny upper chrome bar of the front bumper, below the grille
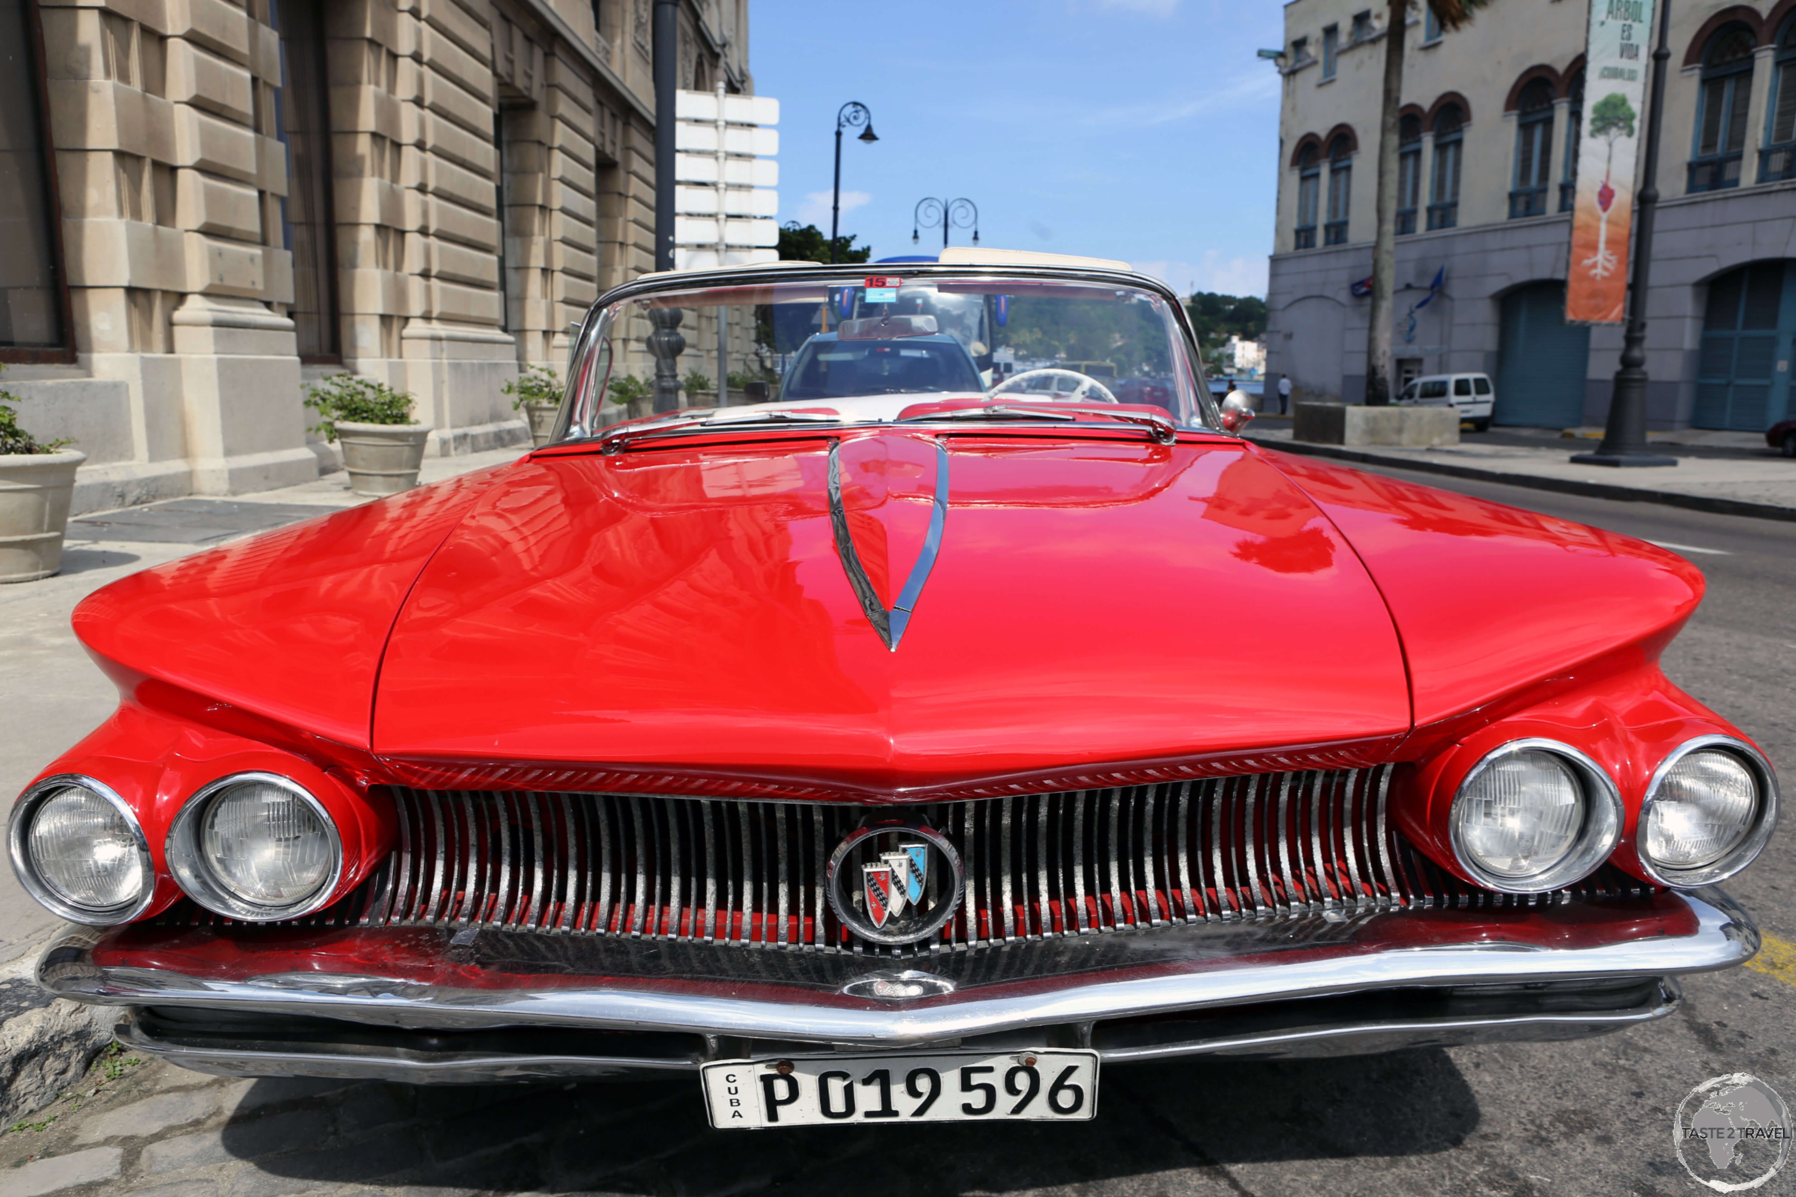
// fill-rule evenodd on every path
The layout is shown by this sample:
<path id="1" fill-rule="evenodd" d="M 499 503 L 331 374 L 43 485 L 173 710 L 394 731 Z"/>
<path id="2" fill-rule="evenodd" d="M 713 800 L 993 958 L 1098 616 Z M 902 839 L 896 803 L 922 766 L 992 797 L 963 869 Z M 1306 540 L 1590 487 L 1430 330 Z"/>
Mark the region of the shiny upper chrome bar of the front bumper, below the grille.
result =
<path id="1" fill-rule="evenodd" d="M 1744 964 L 1758 951 L 1758 928 L 1721 890 L 1661 896 L 1695 917 L 1690 935 L 1654 935 L 1597 948 L 1557 948 L 1548 928 L 1539 942 L 1492 939 L 1478 921 L 1442 924 L 1433 942 L 1413 933 L 1406 946 L 1315 944 L 1268 957 L 1281 924 L 1257 948 L 1218 949 L 1214 935 L 1241 935 L 1243 924 L 1137 931 L 1178 944 L 1184 958 L 1146 971 L 1076 973 L 1029 983 L 961 989 L 914 1003 L 858 1003 L 797 985 L 745 987 L 733 980 L 594 978 L 591 987 L 467 989 L 447 965 L 440 982 L 298 971 L 250 980 L 216 980 L 165 967 L 97 965 L 102 933 L 70 930 L 38 962 L 38 980 L 63 998 L 99 1005 L 201 1007 L 307 1014 L 401 1027 L 560 1025 L 623 1030 L 677 1030 L 864 1046 L 905 1046 L 964 1035 L 1142 1018 L 1254 1001 L 1315 998 L 1394 987 L 1514 985 L 1561 980 L 1676 976 Z M 1367 913 L 1363 921 L 1415 915 Z M 1424 930 L 1428 924 L 1421 924 Z M 1415 946 L 1408 946 L 1415 944 Z M 1011 948 L 1015 951 L 1015 948 Z M 117 953 L 115 953 L 117 955 Z M 1297 958 L 1291 958 L 1297 957 Z M 519 978 L 524 982 L 524 978 Z M 742 998 L 735 994 L 785 994 Z"/>

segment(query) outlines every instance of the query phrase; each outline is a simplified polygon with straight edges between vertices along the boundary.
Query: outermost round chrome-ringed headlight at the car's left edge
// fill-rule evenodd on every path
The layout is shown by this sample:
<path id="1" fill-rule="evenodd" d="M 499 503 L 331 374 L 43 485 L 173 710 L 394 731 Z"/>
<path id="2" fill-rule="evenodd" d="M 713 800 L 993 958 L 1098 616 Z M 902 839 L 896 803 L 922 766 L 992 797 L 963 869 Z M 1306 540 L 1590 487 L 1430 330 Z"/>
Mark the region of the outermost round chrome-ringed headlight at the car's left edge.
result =
<path id="1" fill-rule="evenodd" d="M 25 890 L 74 922 L 128 922 L 156 888 L 136 815 L 92 777 L 48 777 L 20 795 L 7 847 Z"/>

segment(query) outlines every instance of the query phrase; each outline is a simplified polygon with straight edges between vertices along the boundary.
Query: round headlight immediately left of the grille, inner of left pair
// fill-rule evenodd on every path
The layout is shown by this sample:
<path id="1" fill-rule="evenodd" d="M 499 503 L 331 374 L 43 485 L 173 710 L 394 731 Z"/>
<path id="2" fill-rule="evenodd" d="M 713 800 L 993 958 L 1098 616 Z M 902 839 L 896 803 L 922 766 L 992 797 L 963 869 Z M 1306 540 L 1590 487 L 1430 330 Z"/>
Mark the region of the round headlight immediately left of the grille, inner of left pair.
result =
<path id="1" fill-rule="evenodd" d="M 189 897 L 251 922 L 318 910 L 343 872 L 330 815 L 275 773 L 237 773 L 199 790 L 174 817 L 167 854 Z"/>

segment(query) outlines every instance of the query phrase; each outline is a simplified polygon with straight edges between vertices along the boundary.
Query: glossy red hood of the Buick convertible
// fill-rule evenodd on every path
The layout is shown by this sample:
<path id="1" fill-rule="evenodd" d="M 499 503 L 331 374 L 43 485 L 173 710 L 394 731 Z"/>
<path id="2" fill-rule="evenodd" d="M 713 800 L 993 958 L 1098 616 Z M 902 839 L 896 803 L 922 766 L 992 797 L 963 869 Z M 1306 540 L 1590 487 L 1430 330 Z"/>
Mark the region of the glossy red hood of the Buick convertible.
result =
<path id="1" fill-rule="evenodd" d="M 1365 567 L 1237 441 L 869 431 L 837 454 L 779 436 L 506 472 L 393 625 L 374 750 L 905 793 L 1410 727 Z M 873 612 L 916 583 L 938 494 L 887 648 Z"/>

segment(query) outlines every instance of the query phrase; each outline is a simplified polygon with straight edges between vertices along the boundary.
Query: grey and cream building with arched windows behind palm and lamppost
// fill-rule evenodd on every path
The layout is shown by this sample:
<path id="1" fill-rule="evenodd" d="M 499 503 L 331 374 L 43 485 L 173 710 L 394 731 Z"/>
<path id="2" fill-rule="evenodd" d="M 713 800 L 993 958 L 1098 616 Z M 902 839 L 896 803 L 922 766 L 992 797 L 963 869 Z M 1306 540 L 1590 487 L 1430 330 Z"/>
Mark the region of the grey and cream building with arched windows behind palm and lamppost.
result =
<path id="1" fill-rule="evenodd" d="M 1602 2 L 1602 0 L 1595 0 Z M 1268 371 L 1365 395 L 1387 7 L 1291 0 Z M 1406 32 L 1394 373 L 1482 370 L 1498 424 L 1600 425 L 1618 327 L 1566 325 L 1582 0 L 1503 0 Z M 1796 415 L 1796 0 L 1679 0 L 1647 303 L 1652 427 Z"/>

